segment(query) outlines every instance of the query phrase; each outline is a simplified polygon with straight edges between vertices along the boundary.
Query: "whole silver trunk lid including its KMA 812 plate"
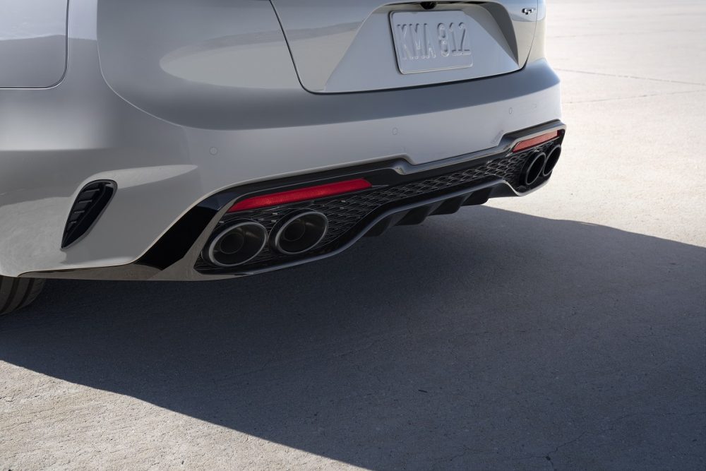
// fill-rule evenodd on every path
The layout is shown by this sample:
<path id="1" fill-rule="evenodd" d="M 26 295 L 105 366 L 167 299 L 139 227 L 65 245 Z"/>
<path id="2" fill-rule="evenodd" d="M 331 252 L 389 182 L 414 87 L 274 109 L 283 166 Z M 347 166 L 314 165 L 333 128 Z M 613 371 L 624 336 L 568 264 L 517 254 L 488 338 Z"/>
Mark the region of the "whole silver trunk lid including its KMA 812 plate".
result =
<path id="1" fill-rule="evenodd" d="M 534 40 L 537 0 L 271 0 L 301 85 L 349 93 L 517 71 Z"/>

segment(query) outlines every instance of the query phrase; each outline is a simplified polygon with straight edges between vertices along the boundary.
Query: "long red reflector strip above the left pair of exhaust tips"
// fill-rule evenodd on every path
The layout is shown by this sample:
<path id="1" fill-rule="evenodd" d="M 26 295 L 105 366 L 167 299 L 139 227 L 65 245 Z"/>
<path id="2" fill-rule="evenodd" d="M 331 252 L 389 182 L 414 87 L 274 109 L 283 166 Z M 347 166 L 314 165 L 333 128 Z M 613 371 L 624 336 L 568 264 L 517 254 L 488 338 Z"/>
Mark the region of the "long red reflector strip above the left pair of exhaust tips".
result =
<path id="1" fill-rule="evenodd" d="M 326 196 L 336 196 L 352 191 L 360 191 L 371 188 L 373 185 L 365 179 L 337 181 L 325 185 L 309 186 L 298 190 L 282 191 L 271 195 L 253 196 L 243 201 L 238 201 L 228 210 L 229 213 L 250 209 L 267 208 L 287 203 L 297 203 L 297 201 L 315 200 Z"/>

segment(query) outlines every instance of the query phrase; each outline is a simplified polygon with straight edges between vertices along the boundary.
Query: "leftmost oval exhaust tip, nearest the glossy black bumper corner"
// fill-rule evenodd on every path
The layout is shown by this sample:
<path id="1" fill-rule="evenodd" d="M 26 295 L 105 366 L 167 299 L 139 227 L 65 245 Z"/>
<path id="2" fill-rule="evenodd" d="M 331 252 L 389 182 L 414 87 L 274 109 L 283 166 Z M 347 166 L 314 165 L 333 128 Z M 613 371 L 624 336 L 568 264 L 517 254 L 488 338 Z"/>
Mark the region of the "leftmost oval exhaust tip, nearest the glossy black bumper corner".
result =
<path id="1" fill-rule="evenodd" d="M 239 266 L 260 254 L 267 244 L 267 236 L 267 229 L 257 222 L 236 222 L 223 229 L 208 244 L 204 255 L 216 266 Z"/>

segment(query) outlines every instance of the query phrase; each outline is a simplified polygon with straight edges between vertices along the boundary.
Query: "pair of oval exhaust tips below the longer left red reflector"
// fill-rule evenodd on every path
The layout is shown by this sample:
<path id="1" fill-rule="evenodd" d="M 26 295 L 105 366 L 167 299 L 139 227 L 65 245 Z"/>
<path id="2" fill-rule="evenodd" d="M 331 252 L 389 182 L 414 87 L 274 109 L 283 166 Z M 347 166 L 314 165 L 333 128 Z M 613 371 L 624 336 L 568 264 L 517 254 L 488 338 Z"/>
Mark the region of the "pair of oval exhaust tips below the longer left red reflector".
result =
<path id="1" fill-rule="evenodd" d="M 222 230 L 204 251 L 204 258 L 223 268 L 248 263 L 261 254 L 268 242 L 273 250 L 299 255 L 316 247 L 328 232 L 328 217 L 317 211 L 289 216 L 268 234 L 258 222 L 243 220 Z"/>

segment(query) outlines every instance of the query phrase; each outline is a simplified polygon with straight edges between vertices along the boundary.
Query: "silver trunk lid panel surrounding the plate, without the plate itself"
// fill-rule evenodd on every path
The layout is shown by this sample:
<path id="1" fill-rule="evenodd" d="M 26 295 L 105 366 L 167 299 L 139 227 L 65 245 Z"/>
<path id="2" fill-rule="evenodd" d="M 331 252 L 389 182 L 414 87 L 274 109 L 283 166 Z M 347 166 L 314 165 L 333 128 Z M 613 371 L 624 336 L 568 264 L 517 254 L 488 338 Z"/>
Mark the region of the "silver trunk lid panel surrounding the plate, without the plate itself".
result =
<path id="1" fill-rule="evenodd" d="M 527 61 L 539 18 L 537 0 L 441 3 L 433 10 L 405 0 L 273 0 L 273 5 L 301 83 L 315 93 L 412 87 L 517 71 Z M 530 14 L 522 12 L 527 7 Z M 390 14 L 450 10 L 466 13 L 474 65 L 400 76 Z"/>

